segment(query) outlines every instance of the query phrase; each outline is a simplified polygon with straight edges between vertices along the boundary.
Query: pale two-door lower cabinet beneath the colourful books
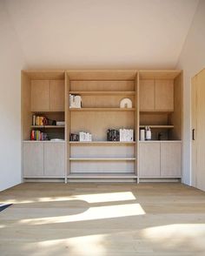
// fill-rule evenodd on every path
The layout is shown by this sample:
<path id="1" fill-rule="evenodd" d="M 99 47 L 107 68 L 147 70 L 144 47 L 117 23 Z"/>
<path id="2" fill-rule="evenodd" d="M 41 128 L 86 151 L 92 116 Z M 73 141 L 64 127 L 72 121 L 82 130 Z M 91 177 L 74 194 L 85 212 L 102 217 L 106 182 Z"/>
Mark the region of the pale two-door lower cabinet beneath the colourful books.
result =
<path id="1" fill-rule="evenodd" d="M 23 142 L 24 178 L 63 178 L 64 142 Z"/>

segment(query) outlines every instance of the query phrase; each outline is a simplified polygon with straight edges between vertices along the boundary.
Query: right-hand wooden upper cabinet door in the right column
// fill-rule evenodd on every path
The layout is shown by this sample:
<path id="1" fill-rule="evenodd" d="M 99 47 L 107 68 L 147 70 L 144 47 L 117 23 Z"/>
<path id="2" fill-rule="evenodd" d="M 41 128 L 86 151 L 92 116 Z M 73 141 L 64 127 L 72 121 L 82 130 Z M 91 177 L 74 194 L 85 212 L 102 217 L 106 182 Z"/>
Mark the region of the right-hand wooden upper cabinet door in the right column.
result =
<path id="1" fill-rule="evenodd" d="M 155 111 L 174 111 L 173 80 L 155 80 Z"/>

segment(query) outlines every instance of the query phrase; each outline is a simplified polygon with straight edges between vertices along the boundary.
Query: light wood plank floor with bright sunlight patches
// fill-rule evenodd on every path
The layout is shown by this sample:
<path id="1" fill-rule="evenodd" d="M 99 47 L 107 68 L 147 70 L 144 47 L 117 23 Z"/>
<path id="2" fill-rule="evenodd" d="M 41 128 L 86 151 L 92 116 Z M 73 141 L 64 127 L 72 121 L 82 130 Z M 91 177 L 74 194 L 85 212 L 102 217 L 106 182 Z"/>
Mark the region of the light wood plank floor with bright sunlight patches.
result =
<path id="1" fill-rule="evenodd" d="M 205 192 L 27 183 L 0 192 L 0 255 L 205 255 Z"/>

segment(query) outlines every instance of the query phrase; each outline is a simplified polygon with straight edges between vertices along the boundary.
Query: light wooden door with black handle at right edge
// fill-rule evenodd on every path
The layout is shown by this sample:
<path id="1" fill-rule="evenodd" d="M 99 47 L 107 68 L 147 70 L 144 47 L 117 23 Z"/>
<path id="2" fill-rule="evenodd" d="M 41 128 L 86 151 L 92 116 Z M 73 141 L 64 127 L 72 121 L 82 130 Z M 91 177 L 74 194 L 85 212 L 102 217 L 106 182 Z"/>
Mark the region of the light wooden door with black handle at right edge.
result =
<path id="1" fill-rule="evenodd" d="M 192 78 L 192 185 L 205 191 L 205 69 Z"/>

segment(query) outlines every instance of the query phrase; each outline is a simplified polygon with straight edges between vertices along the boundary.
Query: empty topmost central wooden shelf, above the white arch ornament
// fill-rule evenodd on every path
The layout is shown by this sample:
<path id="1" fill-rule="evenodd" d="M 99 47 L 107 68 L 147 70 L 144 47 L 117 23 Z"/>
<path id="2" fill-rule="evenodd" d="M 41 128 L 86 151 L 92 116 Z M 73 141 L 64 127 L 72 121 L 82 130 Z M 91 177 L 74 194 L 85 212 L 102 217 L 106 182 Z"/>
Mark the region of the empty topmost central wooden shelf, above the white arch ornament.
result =
<path id="1" fill-rule="evenodd" d="M 100 96 L 112 96 L 112 95 L 135 95 L 136 91 L 69 91 L 70 94 L 76 95 L 84 95 L 84 96 L 92 96 L 92 95 L 100 95 Z"/>

